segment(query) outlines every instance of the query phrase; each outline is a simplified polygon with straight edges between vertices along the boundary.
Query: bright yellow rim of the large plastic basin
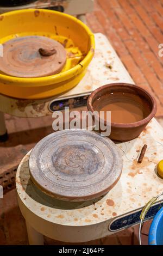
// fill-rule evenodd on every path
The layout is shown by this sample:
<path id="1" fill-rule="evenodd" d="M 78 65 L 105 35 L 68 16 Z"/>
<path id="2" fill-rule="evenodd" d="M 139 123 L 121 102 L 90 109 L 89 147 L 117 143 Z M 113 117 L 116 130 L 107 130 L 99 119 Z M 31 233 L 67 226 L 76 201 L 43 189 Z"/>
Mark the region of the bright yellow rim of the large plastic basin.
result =
<path id="1" fill-rule="evenodd" d="M 94 34 L 91 32 L 90 28 L 87 27 L 82 21 L 77 19 L 76 17 L 73 17 L 72 15 L 60 13 L 59 11 L 53 11 L 53 10 L 45 10 L 45 9 L 23 9 L 23 10 L 14 10 L 9 11 L 8 13 L 4 13 L 3 16 L 10 16 L 13 13 L 19 14 L 19 13 L 32 13 L 35 10 L 39 10 L 40 12 L 49 13 L 49 14 L 57 14 L 59 16 L 67 16 L 69 19 L 78 22 L 80 26 L 82 26 L 87 34 L 90 36 L 90 50 L 87 52 L 85 58 L 76 66 L 73 68 L 62 72 L 60 74 L 55 74 L 52 76 L 45 76 L 45 77 L 35 77 L 35 78 L 22 78 L 22 77 L 15 77 L 15 76 L 8 76 L 4 74 L 0 74 L 0 82 L 3 80 L 3 82 L 6 83 L 16 83 L 17 86 L 22 86 L 22 84 L 26 84 L 26 86 L 47 86 L 54 83 L 59 83 L 64 80 L 67 80 L 73 76 L 76 76 L 80 72 L 82 72 L 82 68 L 85 68 L 92 60 L 93 54 L 95 52 L 95 37 Z M 55 79 L 55 81 L 54 81 Z"/>

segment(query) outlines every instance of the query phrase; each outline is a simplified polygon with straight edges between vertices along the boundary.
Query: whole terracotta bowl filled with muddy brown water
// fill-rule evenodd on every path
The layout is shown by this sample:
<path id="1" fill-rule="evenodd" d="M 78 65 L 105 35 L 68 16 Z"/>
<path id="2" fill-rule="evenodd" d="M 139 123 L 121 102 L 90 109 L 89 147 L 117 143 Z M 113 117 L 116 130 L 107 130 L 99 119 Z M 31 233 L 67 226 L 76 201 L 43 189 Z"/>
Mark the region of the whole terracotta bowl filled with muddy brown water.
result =
<path id="1" fill-rule="evenodd" d="M 156 102 L 151 94 L 134 84 L 112 83 L 92 92 L 87 108 L 91 112 L 111 111 L 109 138 L 122 142 L 140 135 L 156 113 Z M 95 119 L 100 121 L 96 112 Z"/>

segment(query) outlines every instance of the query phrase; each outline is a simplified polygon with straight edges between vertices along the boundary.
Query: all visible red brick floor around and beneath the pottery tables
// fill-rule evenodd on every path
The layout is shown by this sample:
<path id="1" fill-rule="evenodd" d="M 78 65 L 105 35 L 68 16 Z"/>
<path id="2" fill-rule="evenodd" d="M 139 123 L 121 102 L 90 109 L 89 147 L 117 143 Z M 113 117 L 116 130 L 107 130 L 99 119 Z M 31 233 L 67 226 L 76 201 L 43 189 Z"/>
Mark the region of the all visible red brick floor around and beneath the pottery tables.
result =
<path id="1" fill-rule="evenodd" d="M 163 43 L 163 1 L 157 0 L 95 0 L 95 10 L 87 14 L 87 24 L 93 32 L 105 34 L 133 80 L 149 90 L 157 103 L 156 117 L 163 126 L 162 63 L 158 56 L 158 45 Z M 17 154 L 17 147 L 31 149 L 36 142 L 52 130 L 52 117 L 26 119 L 5 115 L 9 141 L 0 144 L 0 158 L 10 152 Z M 24 153 L 23 153 L 24 152 Z M 1 161 L 0 159 L 0 161 Z M 15 159 L 18 158 L 15 157 Z M 16 162 L 15 162 L 16 164 Z M 2 165 L 1 165 L 2 167 Z M 5 166 L 3 166 L 5 168 Z M 1 177 L 0 177 L 1 178 Z M 142 243 L 147 244 L 151 222 L 142 228 Z M 138 245 L 138 226 L 86 244 Z M 46 237 L 45 244 L 65 244 Z M 18 209 L 15 189 L 0 199 L 0 245 L 28 244 L 24 219 Z"/>

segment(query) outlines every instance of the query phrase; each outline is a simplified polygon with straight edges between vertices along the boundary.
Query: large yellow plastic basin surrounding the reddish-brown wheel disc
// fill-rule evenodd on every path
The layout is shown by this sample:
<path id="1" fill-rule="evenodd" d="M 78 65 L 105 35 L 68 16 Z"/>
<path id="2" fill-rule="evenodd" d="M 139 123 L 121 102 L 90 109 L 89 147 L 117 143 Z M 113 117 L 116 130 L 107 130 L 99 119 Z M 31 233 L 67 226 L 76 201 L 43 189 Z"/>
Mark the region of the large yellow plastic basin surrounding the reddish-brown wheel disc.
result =
<path id="1" fill-rule="evenodd" d="M 67 51 L 66 66 L 59 74 L 38 78 L 20 78 L 0 72 L 1 94 L 43 99 L 64 93 L 79 83 L 95 51 L 94 35 L 83 22 L 71 15 L 43 9 L 0 15 L 0 44 L 27 35 L 48 36 L 61 42 Z"/>

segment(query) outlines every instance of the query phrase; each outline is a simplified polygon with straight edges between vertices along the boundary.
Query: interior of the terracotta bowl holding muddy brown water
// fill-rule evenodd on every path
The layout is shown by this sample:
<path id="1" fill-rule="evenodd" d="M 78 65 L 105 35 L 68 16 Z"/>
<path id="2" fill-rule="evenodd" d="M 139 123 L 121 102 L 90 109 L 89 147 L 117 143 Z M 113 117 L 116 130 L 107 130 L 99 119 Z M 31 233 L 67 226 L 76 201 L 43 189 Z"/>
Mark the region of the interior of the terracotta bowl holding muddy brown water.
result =
<path id="1" fill-rule="evenodd" d="M 138 95 L 124 92 L 114 92 L 99 97 L 93 103 L 93 109 L 111 111 L 111 122 L 122 124 L 135 123 L 145 119 L 151 112 L 147 100 L 142 100 Z"/>

